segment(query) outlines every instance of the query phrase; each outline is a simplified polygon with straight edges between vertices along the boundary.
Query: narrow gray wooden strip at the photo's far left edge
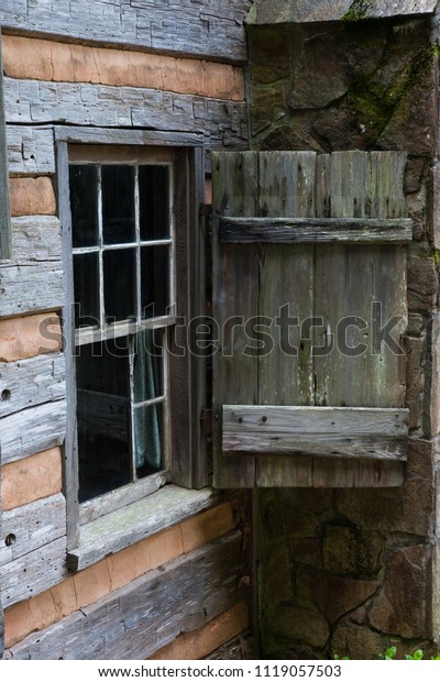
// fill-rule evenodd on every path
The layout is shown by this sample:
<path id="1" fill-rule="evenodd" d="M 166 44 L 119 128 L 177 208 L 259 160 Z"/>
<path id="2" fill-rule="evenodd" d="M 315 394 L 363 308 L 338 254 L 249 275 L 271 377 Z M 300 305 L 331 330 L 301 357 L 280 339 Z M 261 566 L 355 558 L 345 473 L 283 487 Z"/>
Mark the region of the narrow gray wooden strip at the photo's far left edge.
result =
<path id="1" fill-rule="evenodd" d="M 12 257 L 11 206 L 9 198 L 9 168 L 7 124 L 4 114 L 3 62 L 0 30 L 0 260 Z"/>

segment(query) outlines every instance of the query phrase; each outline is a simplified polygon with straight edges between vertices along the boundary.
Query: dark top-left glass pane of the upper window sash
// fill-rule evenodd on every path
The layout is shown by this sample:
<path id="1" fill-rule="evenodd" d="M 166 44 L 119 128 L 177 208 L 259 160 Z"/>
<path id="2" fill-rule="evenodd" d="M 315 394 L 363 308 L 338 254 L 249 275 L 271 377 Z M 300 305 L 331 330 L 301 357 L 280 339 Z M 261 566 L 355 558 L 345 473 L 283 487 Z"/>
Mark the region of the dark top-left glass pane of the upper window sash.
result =
<path id="1" fill-rule="evenodd" d="M 98 166 L 69 166 L 73 246 L 98 244 Z"/>

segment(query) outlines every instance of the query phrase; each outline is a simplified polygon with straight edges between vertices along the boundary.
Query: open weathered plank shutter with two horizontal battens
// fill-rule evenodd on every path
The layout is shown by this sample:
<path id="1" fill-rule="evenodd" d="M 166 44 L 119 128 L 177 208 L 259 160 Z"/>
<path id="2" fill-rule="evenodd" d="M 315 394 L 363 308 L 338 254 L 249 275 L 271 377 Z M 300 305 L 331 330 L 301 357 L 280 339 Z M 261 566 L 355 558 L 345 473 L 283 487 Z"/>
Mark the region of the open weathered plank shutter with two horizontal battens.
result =
<path id="1" fill-rule="evenodd" d="M 217 487 L 402 484 L 405 163 L 213 154 Z"/>

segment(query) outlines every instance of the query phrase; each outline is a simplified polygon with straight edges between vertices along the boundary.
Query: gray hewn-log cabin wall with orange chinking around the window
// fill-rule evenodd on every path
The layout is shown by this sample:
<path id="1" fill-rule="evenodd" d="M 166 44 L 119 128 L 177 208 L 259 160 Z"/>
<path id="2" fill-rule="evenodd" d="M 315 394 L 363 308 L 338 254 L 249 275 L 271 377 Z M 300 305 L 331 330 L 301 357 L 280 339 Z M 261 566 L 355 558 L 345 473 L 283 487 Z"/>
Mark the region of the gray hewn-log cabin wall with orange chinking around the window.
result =
<path id="1" fill-rule="evenodd" d="M 197 659 L 248 627 L 238 497 L 201 492 L 164 530 L 74 574 L 67 569 L 54 129 L 185 131 L 201 134 L 207 150 L 246 148 L 249 7 L 2 2 L 13 233 L 12 260 L 0 266 L 8 658 Z"/>

